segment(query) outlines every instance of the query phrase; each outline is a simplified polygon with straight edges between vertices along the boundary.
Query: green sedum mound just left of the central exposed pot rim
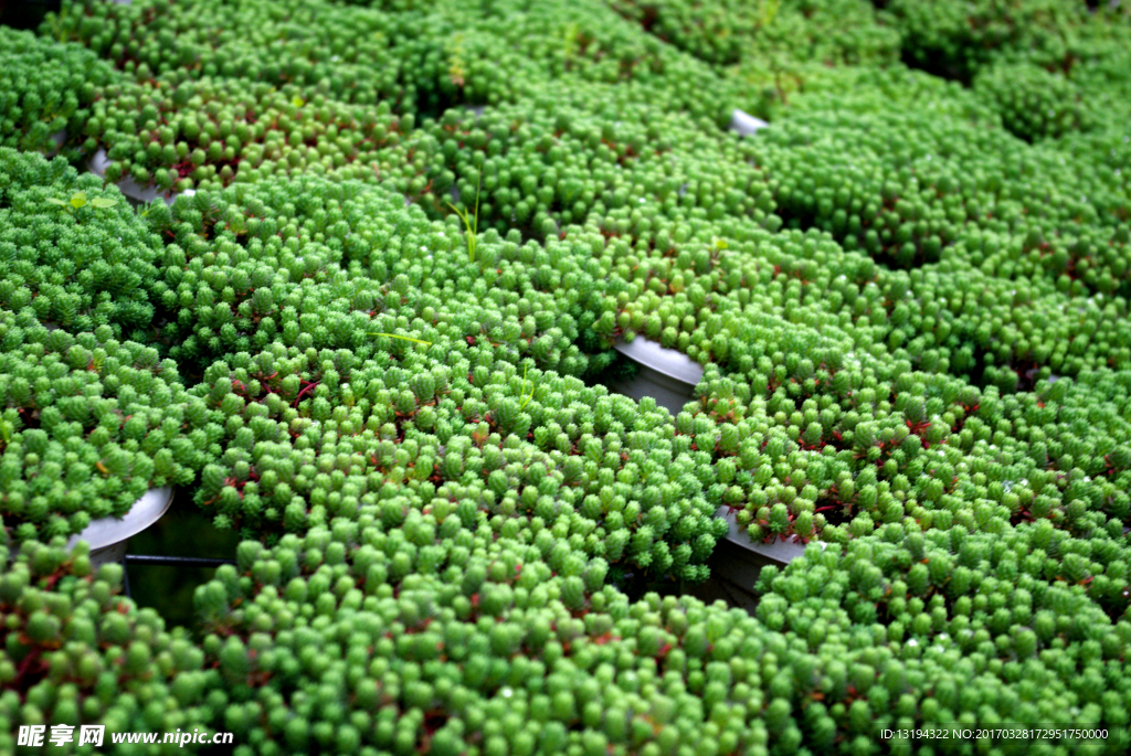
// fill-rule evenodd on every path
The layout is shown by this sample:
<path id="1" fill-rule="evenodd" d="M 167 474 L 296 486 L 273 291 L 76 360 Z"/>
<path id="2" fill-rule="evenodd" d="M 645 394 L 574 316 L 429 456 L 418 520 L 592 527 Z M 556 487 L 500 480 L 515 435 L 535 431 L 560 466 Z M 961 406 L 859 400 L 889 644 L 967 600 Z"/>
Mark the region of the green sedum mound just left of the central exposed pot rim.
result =
<path id="1" fill-rule="evenodd" d="M 598 287 L 592 269 L 494 232 L 477 237 L 482 267 L 468 268 L 455 216 L 429 223 L 383 190 L 316 179 L 238 186 L 199 192 L 172 211 L 154 206 L 147 221 L 173 242 L 154 298 L 178 359 L 207 364 L 277 340 L 364 358 L 371 333 L 412 322 L 503 349 L 513 363 L 529 355 L 572 375 L 588 367 L 572 341 Z M 555 281 L 569 293 L 539 290 Z"/>

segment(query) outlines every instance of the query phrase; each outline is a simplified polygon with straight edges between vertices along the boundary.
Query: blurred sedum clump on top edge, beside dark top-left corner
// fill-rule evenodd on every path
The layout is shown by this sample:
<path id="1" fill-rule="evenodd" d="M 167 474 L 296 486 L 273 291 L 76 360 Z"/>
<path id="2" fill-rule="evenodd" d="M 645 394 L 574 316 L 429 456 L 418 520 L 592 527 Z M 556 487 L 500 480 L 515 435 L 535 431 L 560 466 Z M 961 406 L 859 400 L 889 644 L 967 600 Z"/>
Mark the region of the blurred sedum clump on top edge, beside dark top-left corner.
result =
<path id="1" fill-rule="evenodd" d="M 202 18 L 213 26 L 201 25 Z M 418 34 L 421 20 L 418 14 L 311 0 L 291 3 L 286 12 L 271 12 L 270 3 L 261 1 L 143 0 L 133 8 L 115 8 L 78 0 L 45 27 L 83 43 L 139 82 L 171 75 L 178 82 L 223 78 L 280 88 L 292 84 L 308 96 L 397 106 L 414 95 L 400 75 L 404 47 L 411 44 L 396 43 Z"/>

